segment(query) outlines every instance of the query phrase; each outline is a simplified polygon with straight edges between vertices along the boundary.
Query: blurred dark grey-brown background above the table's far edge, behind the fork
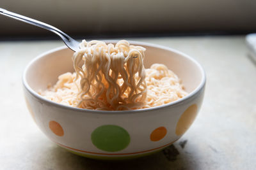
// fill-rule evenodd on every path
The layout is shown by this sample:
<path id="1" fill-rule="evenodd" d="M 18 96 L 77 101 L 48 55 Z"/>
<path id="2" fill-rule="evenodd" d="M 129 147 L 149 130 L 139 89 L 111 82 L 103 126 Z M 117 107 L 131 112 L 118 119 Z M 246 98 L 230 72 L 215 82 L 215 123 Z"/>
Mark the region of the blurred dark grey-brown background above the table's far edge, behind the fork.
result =
<path id="1" fill-rule="evenodd" d="M 75 38 L 247 34 L 256 32 L 255 0 L 1 0 L 0 7 L 58 27 Z M 57 39 L 0 17 L 0 39 Z"/>

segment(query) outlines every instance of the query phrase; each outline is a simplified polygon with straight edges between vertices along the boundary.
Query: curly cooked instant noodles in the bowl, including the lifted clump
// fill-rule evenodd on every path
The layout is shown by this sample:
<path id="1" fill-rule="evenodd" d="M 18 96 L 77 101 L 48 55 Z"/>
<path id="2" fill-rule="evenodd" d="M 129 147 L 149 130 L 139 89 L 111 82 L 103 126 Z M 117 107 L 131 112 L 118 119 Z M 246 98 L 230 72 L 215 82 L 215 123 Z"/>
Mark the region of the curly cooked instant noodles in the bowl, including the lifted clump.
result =
<path id="1" fill-rule="evenodd" d="M 40 92 L 51 101 L 90 110 L 136 110 L 187 95 L 164 64 L 144 68 L 145 48 L 85 40 L 74 53 L 75 73 L 61 74 L 54 87 Z M 157 56 L 156 56 L 157 57 Z"/>

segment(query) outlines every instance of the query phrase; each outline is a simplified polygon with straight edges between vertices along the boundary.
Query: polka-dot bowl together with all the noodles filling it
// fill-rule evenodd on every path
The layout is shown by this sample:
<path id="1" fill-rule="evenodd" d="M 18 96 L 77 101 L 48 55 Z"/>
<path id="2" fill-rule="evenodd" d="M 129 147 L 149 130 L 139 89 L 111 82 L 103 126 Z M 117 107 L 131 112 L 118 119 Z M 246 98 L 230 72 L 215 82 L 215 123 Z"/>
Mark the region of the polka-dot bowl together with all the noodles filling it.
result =
<path id="1" fill-rule="evenodd" d="M 66 46 L 45 52 L 22 80 L 31 117 L 51 141 L 109 160 L 172 145 L 195 120 L 205 87 L 204 69 L 188 55 L 111 40 L 83 41 L 76 53 Z"/>

